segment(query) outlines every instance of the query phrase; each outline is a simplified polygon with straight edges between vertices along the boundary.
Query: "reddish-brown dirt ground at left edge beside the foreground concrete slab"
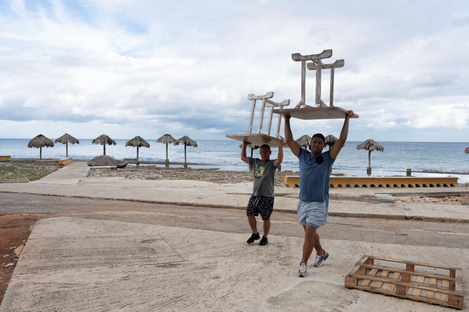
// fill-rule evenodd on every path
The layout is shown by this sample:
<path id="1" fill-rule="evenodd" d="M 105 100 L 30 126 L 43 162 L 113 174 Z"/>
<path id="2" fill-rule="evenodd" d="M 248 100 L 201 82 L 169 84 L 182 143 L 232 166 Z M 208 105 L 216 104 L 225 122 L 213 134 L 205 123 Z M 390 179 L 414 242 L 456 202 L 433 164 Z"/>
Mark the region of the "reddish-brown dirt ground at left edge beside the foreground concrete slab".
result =
<path id="1" fill-rule="evenodd" d="M 13 251 L 26 243 L 37 219 L 30 215 L 0 216 L 0 303 L 18 262 Z"/>

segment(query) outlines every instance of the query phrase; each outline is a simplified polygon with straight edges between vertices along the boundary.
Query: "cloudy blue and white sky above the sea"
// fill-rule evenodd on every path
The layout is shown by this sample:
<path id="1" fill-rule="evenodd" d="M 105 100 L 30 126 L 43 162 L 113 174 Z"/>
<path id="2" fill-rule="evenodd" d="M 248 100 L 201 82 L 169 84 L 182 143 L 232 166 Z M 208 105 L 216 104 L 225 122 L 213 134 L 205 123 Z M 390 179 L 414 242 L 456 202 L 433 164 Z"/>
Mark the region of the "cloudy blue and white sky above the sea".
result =
<path id="1" fill-rule="evenodd" d="M 360 115 L 349 140 L 469 141 L 464 0 L 0 0 L 0 137 L 223 139 L 247 131 L 250 93 L 296 105 L 291 54 L 324 49 L 345 60 L 334 102 Z M 314 83 L 308 71 L 310 104 Z"/>

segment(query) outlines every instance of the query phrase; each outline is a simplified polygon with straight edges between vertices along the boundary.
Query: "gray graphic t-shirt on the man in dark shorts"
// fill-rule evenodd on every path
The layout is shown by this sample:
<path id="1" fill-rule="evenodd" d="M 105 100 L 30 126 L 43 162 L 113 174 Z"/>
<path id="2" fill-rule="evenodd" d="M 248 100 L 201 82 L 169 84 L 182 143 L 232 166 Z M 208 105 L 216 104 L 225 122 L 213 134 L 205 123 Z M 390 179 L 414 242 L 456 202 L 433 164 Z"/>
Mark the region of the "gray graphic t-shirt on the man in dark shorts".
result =
<path id="1" fill-rule="evenodd" d="M 277 167 L 274 160 L 261 161 L 259 158 L 249 157 L 249 163 L 254 167 L 253 195 L 274 197 L 274 175 Z"/>

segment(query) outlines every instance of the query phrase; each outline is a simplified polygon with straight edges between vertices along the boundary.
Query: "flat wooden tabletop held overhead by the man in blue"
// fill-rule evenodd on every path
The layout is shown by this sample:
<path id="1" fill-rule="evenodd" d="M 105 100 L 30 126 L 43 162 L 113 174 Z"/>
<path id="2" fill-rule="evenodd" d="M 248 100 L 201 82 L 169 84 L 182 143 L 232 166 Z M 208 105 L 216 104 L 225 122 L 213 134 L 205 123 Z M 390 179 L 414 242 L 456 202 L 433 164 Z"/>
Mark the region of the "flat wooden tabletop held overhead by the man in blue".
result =
<path id="1" fill-rule="evenodd" d="M 307 108 L 288 108 L 274 109 L 274 113 L 280 115 L 291 116 L 293 118 L 312 120 L 312 119 L 341 119 L 345 118 L 347 110 L 334 107 L 307 107 Z M 358 118 L 357 114 L 353 114 L 351 118 Z"/>

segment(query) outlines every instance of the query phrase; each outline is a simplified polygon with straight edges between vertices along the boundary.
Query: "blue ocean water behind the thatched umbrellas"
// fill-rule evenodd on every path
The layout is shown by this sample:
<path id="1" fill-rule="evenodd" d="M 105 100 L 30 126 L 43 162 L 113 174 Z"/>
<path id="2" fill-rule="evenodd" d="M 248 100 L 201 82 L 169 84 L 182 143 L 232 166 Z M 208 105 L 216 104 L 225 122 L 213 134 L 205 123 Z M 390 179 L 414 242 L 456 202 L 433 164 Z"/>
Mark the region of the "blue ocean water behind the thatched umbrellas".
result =
<path id="1" fill-rule="evenodd" d="M 51 138 L 53 141 L 55 138 Z M 12 158 L 39 158 L 39 149 L 28 148 L 30 139 L 0 139 L 0 155 L 10 155 Z M 103 146 L 91 144 L 92 139 L 79 139 L 80 144 L 68 144 L 68 155 L 74 159 L 91 159 L 103 154 Z M 106 155 L 114 158 L 135 158 L 137 149 L 126 147 L 127 139 L 116 139 L 117 145 L 106 146 Z M 156 143 L 155 139 L 147 139 L 149 148 L 139 148 L 139 160 L 165 161 L 166 146 Z M 187 161 L 193 163 L 214 164 L 214 167 L 228 170 L 248 170 L 241 161 L 239 145 L 241 142 L 225 140 L 196 140 L 198 147 L 187 147 Z M 333 168 L 363 171 L 368 167 L 368 151 L 357 150 L 361 142 L 347 141 L 337 157 Z M 446 171 L 468 172 L 469 155 L 464 149 L 469 143 L 461 142 L 379 142 L 384 146 L 384 152 L 371 153 L 372 173 L 379 171 L 405 172 L 412 171 Z M 324 149 L 327 150 L 328 147 Z M 283 148 L 284 160 L 282 170 L 298 171 L 298 159 L 288 147 Z M 247 155 L 250 156 L 250 149 Z M 254 151 L 259 156 L 259 150 Z M 43 148 L 43 158 L 64 158 L 65 145 L 56 143 L 54 147 Z M 184 162 L 184 146 L 168 144 L 168 158 L 171 162 Z M 272 159 L 277 158 L 277 148 L 272 148 Z M 213 165 L 212 165 L 213 167 Z"/>

